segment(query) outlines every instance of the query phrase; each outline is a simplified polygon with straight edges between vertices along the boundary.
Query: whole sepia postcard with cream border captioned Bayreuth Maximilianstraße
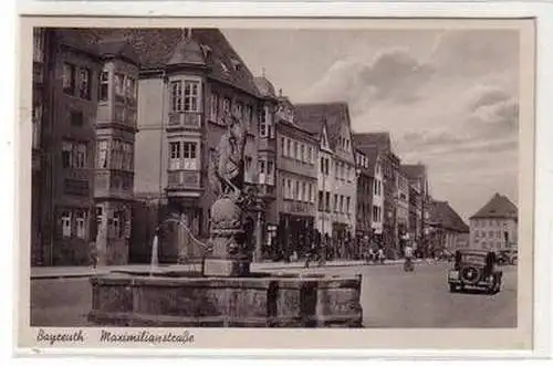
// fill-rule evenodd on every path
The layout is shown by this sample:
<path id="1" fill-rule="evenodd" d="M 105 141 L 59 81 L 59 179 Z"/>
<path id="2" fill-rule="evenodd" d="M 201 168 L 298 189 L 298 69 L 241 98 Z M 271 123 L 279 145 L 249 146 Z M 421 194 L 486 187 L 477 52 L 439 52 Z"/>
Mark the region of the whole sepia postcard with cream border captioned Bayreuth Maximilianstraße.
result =
<path id="1" fill-rule="evenodd" d="M 18 346 L 531 349 L 534 32 L 23 17 Z"/>

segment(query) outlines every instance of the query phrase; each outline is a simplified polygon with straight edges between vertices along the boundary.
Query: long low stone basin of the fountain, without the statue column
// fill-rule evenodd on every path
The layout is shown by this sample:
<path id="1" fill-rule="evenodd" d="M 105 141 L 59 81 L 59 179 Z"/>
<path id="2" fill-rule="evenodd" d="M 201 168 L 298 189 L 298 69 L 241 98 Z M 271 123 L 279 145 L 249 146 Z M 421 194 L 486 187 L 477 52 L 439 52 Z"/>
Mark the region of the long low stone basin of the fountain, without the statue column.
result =
<path id="1" fill-rule="evenodd" d="M 361 327 L 361 280 L 263 272 L 247 278 L 109 273 L 91 279 L 88 320 L 101 326 Z"/>

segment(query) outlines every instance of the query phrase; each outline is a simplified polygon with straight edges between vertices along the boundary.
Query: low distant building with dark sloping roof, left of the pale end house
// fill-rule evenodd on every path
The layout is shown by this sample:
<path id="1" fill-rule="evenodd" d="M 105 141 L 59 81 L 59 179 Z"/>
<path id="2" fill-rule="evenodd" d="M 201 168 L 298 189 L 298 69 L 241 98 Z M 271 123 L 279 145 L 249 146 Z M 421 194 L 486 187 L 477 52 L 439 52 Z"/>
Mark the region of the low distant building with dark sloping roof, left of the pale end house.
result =
<path id="1" fill-rule="evenodd" d="M 429 215 L 430 253 L 469 247 L 469 227 L 447 201 L 432 201 Z"/>

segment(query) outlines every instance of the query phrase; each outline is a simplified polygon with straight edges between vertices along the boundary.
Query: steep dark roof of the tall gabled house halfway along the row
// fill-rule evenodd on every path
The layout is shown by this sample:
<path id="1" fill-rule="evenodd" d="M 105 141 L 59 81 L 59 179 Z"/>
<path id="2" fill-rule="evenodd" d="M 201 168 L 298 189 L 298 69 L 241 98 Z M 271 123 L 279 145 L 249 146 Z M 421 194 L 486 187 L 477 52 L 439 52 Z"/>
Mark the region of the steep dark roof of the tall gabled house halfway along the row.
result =
<path id="1" fill-rule="evenodd" d="M 332 149 L 336 148 L 342 126 L 349 126 L 349 111 L 345 102 L 295 104 L 294 114 L 298 124 L 319 138 L 324 122 Z"/>

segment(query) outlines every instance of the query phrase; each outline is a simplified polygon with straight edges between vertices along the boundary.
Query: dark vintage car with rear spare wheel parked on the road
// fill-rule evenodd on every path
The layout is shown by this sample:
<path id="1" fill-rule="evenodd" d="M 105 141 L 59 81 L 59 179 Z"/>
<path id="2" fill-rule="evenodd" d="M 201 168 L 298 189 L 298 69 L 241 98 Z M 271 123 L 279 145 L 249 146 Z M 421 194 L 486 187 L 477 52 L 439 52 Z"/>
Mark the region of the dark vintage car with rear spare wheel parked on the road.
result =
<path id="1" fill-rule="evenodd" d="M 493 251 L 460 249 L 448 273 L 449 291 L 478 289 L 495 294 L 501 291 L 502 278 L 503 271 L 498 268 Z"/>

